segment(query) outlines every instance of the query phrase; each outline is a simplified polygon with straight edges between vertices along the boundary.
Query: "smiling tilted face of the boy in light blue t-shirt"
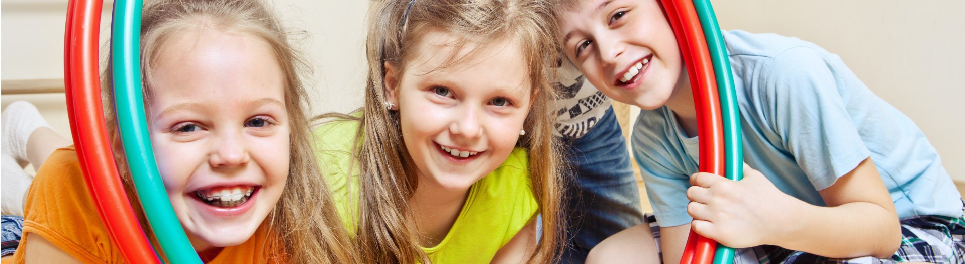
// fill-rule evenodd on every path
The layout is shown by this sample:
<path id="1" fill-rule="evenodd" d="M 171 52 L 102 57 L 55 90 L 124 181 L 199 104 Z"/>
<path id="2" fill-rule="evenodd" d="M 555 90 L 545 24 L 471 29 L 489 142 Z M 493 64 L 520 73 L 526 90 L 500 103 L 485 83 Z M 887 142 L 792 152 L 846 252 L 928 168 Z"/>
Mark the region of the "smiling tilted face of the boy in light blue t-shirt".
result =
<path id="1" fill-rule="evenodd" d="M 683 67 L 656 0 L 581 0 L 560 18 L 566 57 L 600 92 L 644 109 L 667 103 Z"/>

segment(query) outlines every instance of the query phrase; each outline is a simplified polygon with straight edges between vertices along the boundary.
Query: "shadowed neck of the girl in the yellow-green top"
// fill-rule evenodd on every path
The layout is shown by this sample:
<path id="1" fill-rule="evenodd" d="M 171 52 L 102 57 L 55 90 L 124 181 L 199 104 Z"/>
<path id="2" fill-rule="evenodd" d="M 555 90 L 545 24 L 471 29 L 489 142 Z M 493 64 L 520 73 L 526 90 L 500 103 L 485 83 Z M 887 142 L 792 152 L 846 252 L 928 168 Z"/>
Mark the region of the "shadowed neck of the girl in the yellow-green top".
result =
<path id="1" fill-rule="evenodd" d="M 469 189 L 449 190 L 420 177 L 419 187 L 409 197 L 411 221 L 419 232 L 419 246 L 435 247 L 446 238 L 468 194 Z"/>

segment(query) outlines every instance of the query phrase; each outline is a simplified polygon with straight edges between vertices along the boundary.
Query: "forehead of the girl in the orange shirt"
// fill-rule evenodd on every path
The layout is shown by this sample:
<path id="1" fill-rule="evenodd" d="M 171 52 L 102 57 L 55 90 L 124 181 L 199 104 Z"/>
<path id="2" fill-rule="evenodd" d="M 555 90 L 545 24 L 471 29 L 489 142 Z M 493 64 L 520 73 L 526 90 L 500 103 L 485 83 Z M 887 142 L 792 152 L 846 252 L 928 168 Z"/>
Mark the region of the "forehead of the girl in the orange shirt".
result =
<path id="1" fill-rule="evenodd" d="M 191 30 L 163 44 L 152 69 L 152 103 L 285 102 L 285 74 L 270 45 L 247 33 Z M 159 105 L 160 106 L 160 105 Z"/>

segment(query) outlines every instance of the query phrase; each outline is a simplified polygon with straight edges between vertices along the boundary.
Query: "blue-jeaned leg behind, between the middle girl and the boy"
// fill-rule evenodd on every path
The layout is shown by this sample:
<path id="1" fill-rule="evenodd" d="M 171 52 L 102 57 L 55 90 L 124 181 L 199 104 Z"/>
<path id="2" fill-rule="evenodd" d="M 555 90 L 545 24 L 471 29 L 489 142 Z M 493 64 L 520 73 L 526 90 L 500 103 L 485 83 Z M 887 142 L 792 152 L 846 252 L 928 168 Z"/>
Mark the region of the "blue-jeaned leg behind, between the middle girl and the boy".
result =
<path id="1" fill-rule="evenodd" d="M 565 148 L 572 171 L 565 203 L 570 247 L 562 262 L 583 263 L 600 241 L 643 222 L 640 191 L 613 107 Z"/>

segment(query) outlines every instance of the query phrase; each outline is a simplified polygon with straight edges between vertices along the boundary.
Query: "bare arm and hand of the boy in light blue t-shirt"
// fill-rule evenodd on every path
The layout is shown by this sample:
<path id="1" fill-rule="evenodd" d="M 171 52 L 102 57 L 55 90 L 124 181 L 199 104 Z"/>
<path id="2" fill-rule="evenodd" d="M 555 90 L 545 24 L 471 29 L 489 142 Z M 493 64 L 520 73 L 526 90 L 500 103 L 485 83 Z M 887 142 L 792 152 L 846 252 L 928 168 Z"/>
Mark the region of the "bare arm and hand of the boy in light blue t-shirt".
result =
<path id="1" fill-rule="evenodd" d="M 887 258 L 900 243 L 895 204 L 870 159 L 820 191 L 827 207 L 787 195 L 746 165 L 744 174 L 740 182 L 691 178 L 695 231 L 731 248 L 775 245 L 831 258 Z"/>

